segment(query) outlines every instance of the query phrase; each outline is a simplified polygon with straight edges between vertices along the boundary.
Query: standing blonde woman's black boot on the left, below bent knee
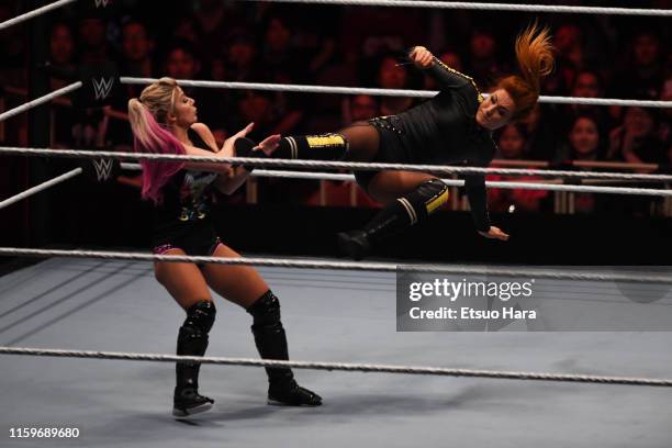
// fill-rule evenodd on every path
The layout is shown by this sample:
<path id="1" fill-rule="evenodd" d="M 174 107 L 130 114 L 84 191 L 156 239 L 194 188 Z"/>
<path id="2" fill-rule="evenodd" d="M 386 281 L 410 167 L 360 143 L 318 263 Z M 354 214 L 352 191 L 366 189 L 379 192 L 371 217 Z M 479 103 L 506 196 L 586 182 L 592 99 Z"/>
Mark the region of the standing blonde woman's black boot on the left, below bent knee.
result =
<path id="1" fill-rule="evenodd" d="M 216 310 L 211 301 L 201 301 L 187 310 L 187 320 L 180 327 L 177 354 L 182 356 L 203 356 L 208 348 L 208 333 L 214 323 Z M 172 415 L 186 417 L 210 410 L 212 399 L 199 394 L 199 362 L 176 366 L 177 385 L 175 387 Z"/>

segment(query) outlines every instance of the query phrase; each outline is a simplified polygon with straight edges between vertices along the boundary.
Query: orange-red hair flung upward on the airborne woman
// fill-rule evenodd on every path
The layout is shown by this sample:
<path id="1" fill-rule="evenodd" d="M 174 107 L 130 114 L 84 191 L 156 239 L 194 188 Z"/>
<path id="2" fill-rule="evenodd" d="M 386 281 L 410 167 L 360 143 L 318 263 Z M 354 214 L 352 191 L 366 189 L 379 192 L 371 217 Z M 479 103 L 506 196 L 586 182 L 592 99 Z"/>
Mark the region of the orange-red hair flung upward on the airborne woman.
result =
<path id="1" fill-rule="evenodd" d="M 537 22 L 516 37 L 516 59 L 520 75 L 500 79 L 499 89 L 504 89 L 515 104 L 513 120 L 525 119 L 539 99 L 541 78 L 553 71 L 553 45 L 548 26 L 540 29 Z"/>

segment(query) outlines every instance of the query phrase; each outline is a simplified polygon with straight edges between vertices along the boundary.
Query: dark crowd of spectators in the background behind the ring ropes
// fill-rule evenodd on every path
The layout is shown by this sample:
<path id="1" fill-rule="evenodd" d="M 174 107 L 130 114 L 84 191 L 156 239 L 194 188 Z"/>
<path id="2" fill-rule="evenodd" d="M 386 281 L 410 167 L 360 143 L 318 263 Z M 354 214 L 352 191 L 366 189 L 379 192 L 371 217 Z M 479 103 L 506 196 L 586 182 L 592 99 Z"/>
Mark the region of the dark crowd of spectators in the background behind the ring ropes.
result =
<path id="1" fill-rule="evenodd" d="M 0 4 L 0 21 L 22 11 L 22 2 Z M 76 66 L 113 60 L 123 76 L 205 79 L 323 86 L 434 89 L 400 55 L 413 45 L 428 47 L 455 69 L 474 78 L 486 91 L 515 70 L 513 40 L 536 16 L 520 13 L 292 5 L 222 0 L 148 2 L 126 0 L 117 15 L 76 18 L 63 9 L 49 13 L 49 63 L 67 71 Z M 564 2 L 567 3 L 567 2 Z M 578 2 L 575 2 L 578 4 Z M 585 2 L 581 2 L 582 4 Z M 617 2 L 616 2 L 617 3 Z M 670 8 L 669 1 L 638 7 Z M 625 4 L 624 4 L 625 5 Z M 671 100 L 672 54 L 664 19 L 612 15 L 540 15 L 552 27 L 557 69 L 542 94 Z M 25 101 L 31 60 L 26 25 L 0 32 L 0 109 Z M 53 77 L 52 88 L 68 81 Z M 52 146 L 115 146 L 127 149 L 131 131 L 125 101 L 141 86 L 124 86 L 126 98 L 107 110 L 74 114 L 65 102 L 54 113 Z M 335 131 L 354 121 L 401 112 L 410 98 L 294 94 L 255 90 L 186 89 L 195 99 L 199 117 L 222 143 L 255 122 L 253 138 L 271 133 Z M 670 109 L 540 104 L 523 123 L 494 134 L 505 160 L 613 160 L 672 163 Z M 29 145 L 26 120 L 0 125 L 0 143 Z M 495 178 L 493 178 L 495 179 Z M 344 191 L 327 184 L 317 201 L 314 182 L 267 181 L 261 200 L 294 198 L 309 203 L 344 202 Z M 266 188 L 264 188 L 266 186 Z M 282 188 L 278 188 L 282 186 Z M 288 193 L 289 191 L 289 193 Z M 329 191 L 333 191 L 329 193 Z M 340 199 L 339 199 L 340 198 Z M 520 210 L 544 210 L 549 194 L 494 191 L 493 210 L 515 203 Z M 359 203 L 369 204 L 365 199 Z M 591 211 L 595 199 L 576 201 Z"/>

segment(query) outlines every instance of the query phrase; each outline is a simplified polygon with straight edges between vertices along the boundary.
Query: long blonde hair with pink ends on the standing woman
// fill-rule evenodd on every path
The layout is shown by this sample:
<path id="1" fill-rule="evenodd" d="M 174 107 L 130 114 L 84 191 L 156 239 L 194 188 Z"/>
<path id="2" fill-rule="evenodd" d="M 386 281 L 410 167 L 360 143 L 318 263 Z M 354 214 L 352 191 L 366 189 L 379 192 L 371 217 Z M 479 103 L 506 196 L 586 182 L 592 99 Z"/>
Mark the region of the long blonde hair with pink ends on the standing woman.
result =
<path id="1" fill-rule="evenodd" d="M 161 78 L 147 86 L 139 99 L 128 101 L 128 121 L 134 135 L 136 153 L 187 154 L 184 146 L 168 131 L 168 114 L 175 110 L 178 83 L 172 78 Z M 183 163 L 141 161 L 143 166 L 143 198 L 158 203 L 161 188 Z"/>

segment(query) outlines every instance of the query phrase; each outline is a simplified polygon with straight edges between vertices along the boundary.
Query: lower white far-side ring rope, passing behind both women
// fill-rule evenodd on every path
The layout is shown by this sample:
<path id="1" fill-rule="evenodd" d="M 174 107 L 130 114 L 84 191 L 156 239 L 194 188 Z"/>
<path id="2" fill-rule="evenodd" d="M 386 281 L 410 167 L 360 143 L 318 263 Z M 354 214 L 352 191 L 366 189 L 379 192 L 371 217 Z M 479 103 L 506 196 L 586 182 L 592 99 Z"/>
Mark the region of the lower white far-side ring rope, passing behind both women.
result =
<path id="1" fill-rule="evenodd" d="M 142 170 L 138 164 L 120 164 L 122 169 Z M 277 171 L 269 169 L 255 169 L 250 175 L 255 178 L 275 179 L 302 179 L 302 180 L 337 180 L 343 182 L 356 182 L 355 176 L 336 172 L 305 172 L 305 171 Z M 448 187 L 464 187 L 464 181 L 459 179 L 441 179 Z M 593 187 L 593 186 L 562 186 L 546 182 L 511 182 L 486 180 L 485 187 L 501 188 L 504 190 L 541 190 L 541 191 L 568 191 L 575 193 L 611 193 L 611 194 L 635 194 L 653 197 L 672 197 L 672 190 L 657 190 L 650 188 L 628 187 Z"/>

